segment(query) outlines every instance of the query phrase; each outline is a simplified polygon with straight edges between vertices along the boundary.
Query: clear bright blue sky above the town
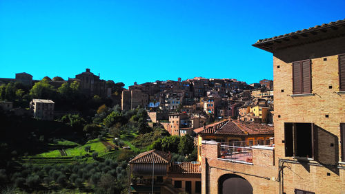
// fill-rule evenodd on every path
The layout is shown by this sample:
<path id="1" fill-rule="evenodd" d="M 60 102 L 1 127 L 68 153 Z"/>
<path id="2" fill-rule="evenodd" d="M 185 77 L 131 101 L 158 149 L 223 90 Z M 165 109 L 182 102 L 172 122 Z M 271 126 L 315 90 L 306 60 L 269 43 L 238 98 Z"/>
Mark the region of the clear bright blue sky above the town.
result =
<path id="1" fill-rule="evenodd" d="M 74 78 L 90 68 L 132 85 L 273 78 L 257 39 L 345 18 L 345 1 L 0 0 L 0 77 Z"/>

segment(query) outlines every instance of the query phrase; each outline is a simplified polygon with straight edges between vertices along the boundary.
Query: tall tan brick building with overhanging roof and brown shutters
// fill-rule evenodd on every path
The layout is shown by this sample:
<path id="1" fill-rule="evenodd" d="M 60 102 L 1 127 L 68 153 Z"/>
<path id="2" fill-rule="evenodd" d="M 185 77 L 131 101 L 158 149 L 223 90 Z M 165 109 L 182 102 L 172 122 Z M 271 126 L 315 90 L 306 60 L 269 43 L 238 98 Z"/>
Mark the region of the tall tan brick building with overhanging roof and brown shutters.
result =
<path id="1" fill-rule="evenodd" d="M 282 193 L 345 192 L 345 20 L 253 46 L 273 53 Z"/>

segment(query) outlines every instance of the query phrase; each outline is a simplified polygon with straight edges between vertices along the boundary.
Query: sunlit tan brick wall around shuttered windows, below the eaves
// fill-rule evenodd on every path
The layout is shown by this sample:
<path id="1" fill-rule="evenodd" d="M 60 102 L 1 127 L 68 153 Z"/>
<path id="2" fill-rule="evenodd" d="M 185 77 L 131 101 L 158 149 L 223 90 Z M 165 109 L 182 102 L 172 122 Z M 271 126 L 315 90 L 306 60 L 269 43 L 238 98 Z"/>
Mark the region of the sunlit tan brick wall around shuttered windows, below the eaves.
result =
<path id="1" fill-rule="evenodd" d="M 345 122 L 345 95 L 335 93 L 339 91 L 337 54 L 345 52 L 344 45 L 342 37 L 289 47 L 274 54 L 275 163 L 279 158 L 290 161 L 284 165 L 287 166 L 284 168 L 286 193 L 294 193 L 295 188 L 315 193 L 345 192 L 344 164 L 338 164 L 341 157 L 339 124 Z M 292 62 L 305 59 L 311 59 L 312 93 L 315 95 L 291 97 Z M 317 160 L 298 161 L 285 157 L 284 122 L 316 125 Z"/>

